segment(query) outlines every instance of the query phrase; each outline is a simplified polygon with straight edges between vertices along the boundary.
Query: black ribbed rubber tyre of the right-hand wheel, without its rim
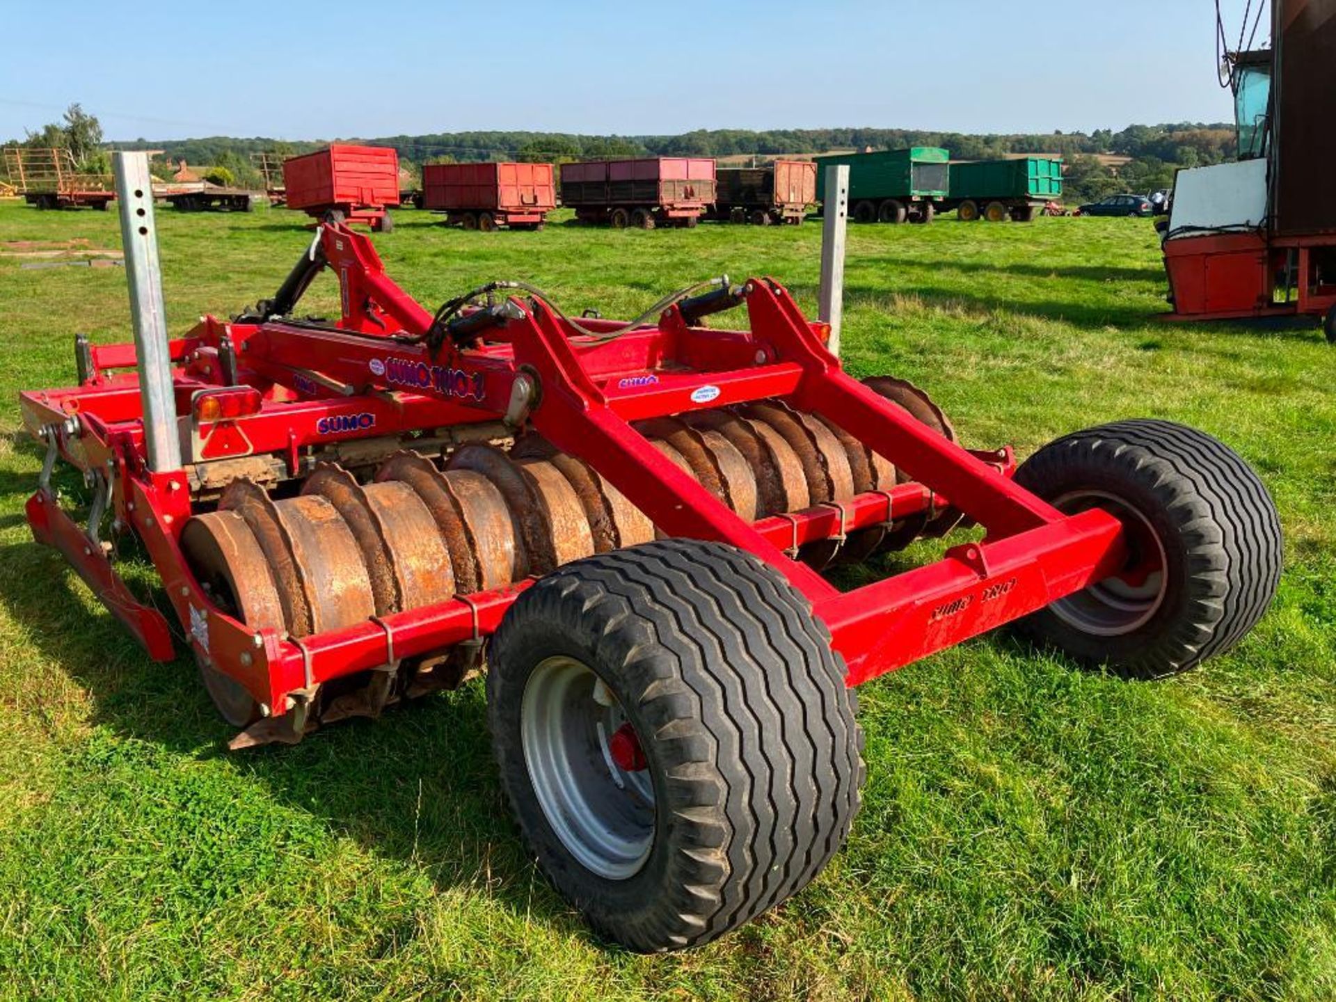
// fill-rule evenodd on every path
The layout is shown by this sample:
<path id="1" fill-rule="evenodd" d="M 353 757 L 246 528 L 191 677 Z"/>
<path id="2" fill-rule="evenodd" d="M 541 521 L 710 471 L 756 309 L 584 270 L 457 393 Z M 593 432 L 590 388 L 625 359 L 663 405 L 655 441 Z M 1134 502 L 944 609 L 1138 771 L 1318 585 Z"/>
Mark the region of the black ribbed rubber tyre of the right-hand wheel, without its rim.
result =
<path id="1" fill-rule="evenodd" d="M 1283 562 L 1280 518 L 1252 468 L 1204 432 L 1132 420 L 1055 440 L 1022 464 L 1015 480 L 1053 497 L 1053 485 L 1098 468 L 1148 489 L 1173 521 L 1186 556 L 1181 611 L 1134 656 L 1109 667 L 1133 677 L 1158 677 L 1193 668 L 1238 643 L 1271 605 Z M 1054 640 L 1062 633 L 1055 620 L 1045 609 L 1018 625 L 1037 639 Z M 1079 649 L 1073 653 L 1102 660 Z"/>

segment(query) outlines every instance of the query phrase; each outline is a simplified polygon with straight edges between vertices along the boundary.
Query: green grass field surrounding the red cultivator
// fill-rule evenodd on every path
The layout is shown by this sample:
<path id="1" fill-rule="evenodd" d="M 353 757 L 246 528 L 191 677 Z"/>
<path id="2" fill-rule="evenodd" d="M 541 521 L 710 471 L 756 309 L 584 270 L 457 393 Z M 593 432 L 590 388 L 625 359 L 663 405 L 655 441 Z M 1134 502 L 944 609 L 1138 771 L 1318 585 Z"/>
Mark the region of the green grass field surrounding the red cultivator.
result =
<path id="1" fill-rule="evenodd" d="M 721 271 L 815 305 L 816 224 L 398 222 L 377 246 L 430 307 L 525 278 L 566 311 L 631 315 Z M 310 239 L 277 210 L 159 223 L 175 333 L 270 294 Z M 0 242 L 69 238 L 118 246 L 115 212 L 0 206 Z M 597 942 L 525 858 L 481 684 L 228 755 L 194 664 L 148 661 L 32 542 L 40 454 L 16 394 L 73 381 L 76 330 L 130 338 L 124 282 L 0 257 L 0 995 L 1336 995 L 1336 355 L 1313 330 L 1153 321 L 1148 222 L 854 228 L 847 365 L 918 382 L 967 444 L 1022 456 L 1130 415 L 1224 438 L 1281 510 L 1272 612 L 1164 683 L 990 636 L 864 687 L 868 783 L 847 848 L 740 933 L 656 958 Z M 81 482 L 63 482 L 77 502 Z"/>

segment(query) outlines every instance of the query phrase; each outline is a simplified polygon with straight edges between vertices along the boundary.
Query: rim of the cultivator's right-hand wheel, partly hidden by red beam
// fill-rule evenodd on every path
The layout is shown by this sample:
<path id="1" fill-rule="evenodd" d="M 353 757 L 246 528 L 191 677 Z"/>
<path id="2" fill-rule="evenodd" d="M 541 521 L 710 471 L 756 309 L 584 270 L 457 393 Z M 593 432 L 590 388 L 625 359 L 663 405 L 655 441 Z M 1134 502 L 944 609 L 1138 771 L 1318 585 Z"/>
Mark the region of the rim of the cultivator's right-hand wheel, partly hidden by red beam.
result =
<path id="1" fill-rule="evenodd" d="M 1063 623 L 1083 633 L 1101 637 L 1118 637 L 1140 629 L 1160 611 L 1165 600 L 1165 573 L 1169 565 L 1164 542 L 1150 520 L 1120 497 L 1102 490 L 1073 490 L 1053 502 L 1065 514 L 1100 508 L 1117 516 L 1124 524 L 1144 526 L 1146 538 L 1154 541 L 1154 556 L 1160 560 L 1160 570 L 1146 574 L 1140 585 L 1129 584 L 1120 577 L 1106 577 L 1089 588 L 1059 599 L 1049 608 Z"/>

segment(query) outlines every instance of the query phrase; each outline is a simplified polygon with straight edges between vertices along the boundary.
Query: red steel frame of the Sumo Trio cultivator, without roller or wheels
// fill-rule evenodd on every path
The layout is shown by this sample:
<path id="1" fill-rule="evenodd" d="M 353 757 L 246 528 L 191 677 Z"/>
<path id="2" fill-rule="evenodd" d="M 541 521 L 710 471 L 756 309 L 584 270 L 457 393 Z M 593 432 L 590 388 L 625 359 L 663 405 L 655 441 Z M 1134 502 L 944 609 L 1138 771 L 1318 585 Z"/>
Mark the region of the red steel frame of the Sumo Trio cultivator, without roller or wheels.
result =
<path id="1" fill-rule="evenodd" d="M 847 375 L 826 350 L 824 325 L 804 319 L 772 279 L 744 286 L 749 331 L 689 326 L 673 306 L 657 325 L 600 341 L 574 330 L 541 301 L 512 299 L 516 318 L 489 334 L 490 343 L 445 345 L 433 358 L 425 345 L 403 338 L 425 334 L 430 314 L 385 275 L 370 240 L 338 224 L 325 224 L 319 239 L 342 282 L 345 315 L 338 329 L 206 318 L 171 342 L 190 458 L 270 453 L 286 457 L 295 474 L 310 446 L 496 421 L 506 414 L 522 377 L 540 387 L 528 425 L 591 464 L 665 533 L 732 544 L 778 568 L 830 628 L 851 685 L 1122 568 L 1122 529 L 1113 516 L 1058 512 L 1010 478 L 1009 450 L 962 449 Z M 595 331 L 617 326 L 599 319 L 581 323 Z M 257 414 L 199 425 L 188 401 L 199 390 L 223 385 L 224 337 L 236 351 L 238 382 L 262 389 L 265 402 Z M 485 637 L 526 587 L 458 597 L 302 640 L 248 629 L 210 603 L 182 557 L 178 540 L 194 504 L 190 484 L 184 470 L 155 473 L 146 466 L 138 377 L 123 371 L 134 363 L 131 345 L 91 349 L 83 385 L 21 395 L 25 424 L 48 444 L 48 470 L 59 454 L 84 470 L 112 474 L 115 516 L 143 540 L 191 644 L 275 712 L 317 683 Z M 353 387 L 351 395 L 341 385 Z M 749 524 L 631 424 L 763 398 L 830 418 L 916 482 Z M 329 421 L 347 415 L 370 418 Z M 341 430 L 330 433 L 331 424 Z M 799 544 L 840 538 L 883 524 L 892 513 L 900 518 L 947 504 L 985 526 L 986 538 L 843 593 L 795 558 Z M 163 616 L 132 596 L 96 540 L 60 509 L 45 480 L 27 512 L 36 538 L 65 554 L 148 653 L 171 659 Z"/>

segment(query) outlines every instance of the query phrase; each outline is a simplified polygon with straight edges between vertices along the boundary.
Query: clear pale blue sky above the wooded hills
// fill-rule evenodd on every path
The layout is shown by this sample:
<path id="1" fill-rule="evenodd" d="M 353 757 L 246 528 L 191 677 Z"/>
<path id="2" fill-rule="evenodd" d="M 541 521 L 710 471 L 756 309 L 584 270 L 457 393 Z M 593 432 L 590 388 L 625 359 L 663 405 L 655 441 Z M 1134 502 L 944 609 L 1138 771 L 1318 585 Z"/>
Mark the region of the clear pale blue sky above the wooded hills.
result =
<path id="1" fill-rule="evenodd" d="M 1237 21 L 1242 1 L 1226 0 L 1226 13 L 1233 7 Z M 1210 0 L 4 0 L 0 9 L 9 40 L 0 139 L 75 100 L 110 139 L 1049 132 L 1230 116 L 1216 86 Z"/>

